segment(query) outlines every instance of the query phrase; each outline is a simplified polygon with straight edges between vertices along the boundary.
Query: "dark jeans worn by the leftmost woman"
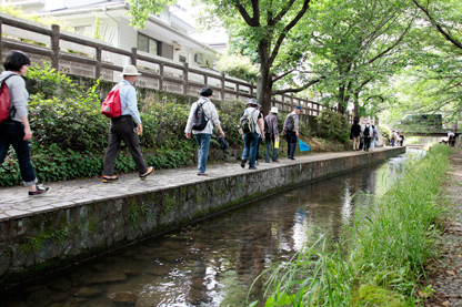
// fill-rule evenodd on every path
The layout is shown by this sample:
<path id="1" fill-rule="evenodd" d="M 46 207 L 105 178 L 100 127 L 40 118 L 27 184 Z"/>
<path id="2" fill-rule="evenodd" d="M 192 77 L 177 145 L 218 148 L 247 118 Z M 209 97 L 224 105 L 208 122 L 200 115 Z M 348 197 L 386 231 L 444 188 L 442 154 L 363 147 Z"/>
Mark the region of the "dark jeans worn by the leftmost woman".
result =
<path id="1" fill-rule="evenodd" d="M 37 177 L 30 161 L 29 141 L 22 140 L 23 137 L 24 126 L 22 123 L 8 121 L 0 124 L 0 164 L 3 163 L 8 149 L 12 145 L 18 156 L 22 183 L 26 186 L 31 186 L 37 183 Z"/>

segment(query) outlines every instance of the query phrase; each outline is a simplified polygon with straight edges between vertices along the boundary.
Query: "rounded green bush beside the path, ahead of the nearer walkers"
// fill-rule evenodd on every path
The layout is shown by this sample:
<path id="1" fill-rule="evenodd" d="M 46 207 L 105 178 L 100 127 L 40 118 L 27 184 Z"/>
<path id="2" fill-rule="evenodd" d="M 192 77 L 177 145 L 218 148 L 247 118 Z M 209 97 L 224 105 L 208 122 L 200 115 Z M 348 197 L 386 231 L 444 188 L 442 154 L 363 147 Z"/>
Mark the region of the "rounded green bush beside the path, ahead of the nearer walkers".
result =
<path id="1" fill-rule="evenodd" d="M 339 140 L 345 143 L 350 139 L 350 124 L 348 119 L 330 109 L 323 109 L 318 115 L 320 136 Z"/>

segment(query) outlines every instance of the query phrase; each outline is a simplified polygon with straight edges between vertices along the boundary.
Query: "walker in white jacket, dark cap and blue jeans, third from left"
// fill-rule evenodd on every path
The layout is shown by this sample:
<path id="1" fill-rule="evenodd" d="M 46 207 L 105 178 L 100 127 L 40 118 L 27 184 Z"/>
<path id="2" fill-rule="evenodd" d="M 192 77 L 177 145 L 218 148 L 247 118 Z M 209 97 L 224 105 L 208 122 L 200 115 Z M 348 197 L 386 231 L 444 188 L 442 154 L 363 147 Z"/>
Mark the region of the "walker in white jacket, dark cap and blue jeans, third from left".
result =
<path id="1" fill-rule="evenodd" d="M 212 96 L 213 91 L 209 86 L 203 86 L 200 92 L 199 101 L 194 102 L 191 105 L 191 111 L 189 113 L 188 123 L 184 129 L 184 133 L 187 139 L 191 137 L 191 132 L 194 134 L 195 142 L 199 145 L 198 149 L 198 176 L 205 176 L 205 168 L 207 168 L 207 160 L 209 157 L 209 149 L 210 149 L 210 139 L 212 137 L 213 133 L 213 124 L 220 131 L 221 136 L 224 139 L 224 132 L 220 125 L 219 115 L 217 112 L 215 105 L 212 103 L 210 98 Z M 203 130 L 192 130 L 192 120 L 194 117 L 195 111 L 199 108 L 199 104 L 202 106 L 205 117 L 208 119 L 207 125 Z"/>

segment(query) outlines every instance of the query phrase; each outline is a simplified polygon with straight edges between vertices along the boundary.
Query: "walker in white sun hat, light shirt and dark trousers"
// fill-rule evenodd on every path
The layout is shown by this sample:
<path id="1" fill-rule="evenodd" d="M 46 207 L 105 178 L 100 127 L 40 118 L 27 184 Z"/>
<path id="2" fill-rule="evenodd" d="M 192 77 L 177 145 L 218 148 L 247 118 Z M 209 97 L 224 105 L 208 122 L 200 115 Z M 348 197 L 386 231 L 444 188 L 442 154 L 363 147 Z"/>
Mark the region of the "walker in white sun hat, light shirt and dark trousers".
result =
<path id="1" fill-rule="evenodd" d="M 114 175 L 114 161 L 122 140 L 129 147 L 130 154 L 137 164 L 140 180 L 145 180 L 154 173 L 154 167 L 147 167 L 138 136 L 143 133 L 140 112 L 137 105 L 137 91 L 133 88 L 138 75 L 141 75 L 141 73 L 138 72 L 134 65 L 127 65 L 121 73 L 123 80 L 116 85 L 119 88 L 122 115 L 111 119 L 109 144 L 104 155 L 103 183 L 111 183 L 118 180 L 118 176 Z M 137 122 L 137 125 L 134 125 L 133 120 Z"/>

